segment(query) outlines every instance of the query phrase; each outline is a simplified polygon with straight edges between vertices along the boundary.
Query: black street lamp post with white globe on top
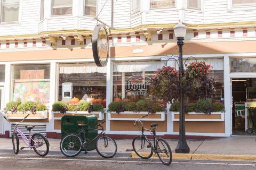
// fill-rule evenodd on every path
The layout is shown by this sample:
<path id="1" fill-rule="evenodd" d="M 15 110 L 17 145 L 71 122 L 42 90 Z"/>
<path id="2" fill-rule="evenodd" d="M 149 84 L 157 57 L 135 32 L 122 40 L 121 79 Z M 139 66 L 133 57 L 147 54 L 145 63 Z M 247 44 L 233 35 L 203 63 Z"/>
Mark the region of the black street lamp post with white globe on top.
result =
<path id="1" fill-rule="evenodd" d="M 182 58 L 182 46 L 183 46 L 183 40 L 186 35 L 186 26 L 183 25 L 180 21 L 177 25 L 174 27 L 174 34 L 175 37 L 177 37 L 177 44 L 179 46 L 179 79 L 180 79 L 180 126 L 179 126 L 179 142 L 177 147 L 175 148 L 176 153 L 189 153 L 189 147 L 186 141 L 186 134 L 185 134 L 185 96 L 182 89 L 182 83 L 181 78 L 183 77 L 183 58 Z"/>

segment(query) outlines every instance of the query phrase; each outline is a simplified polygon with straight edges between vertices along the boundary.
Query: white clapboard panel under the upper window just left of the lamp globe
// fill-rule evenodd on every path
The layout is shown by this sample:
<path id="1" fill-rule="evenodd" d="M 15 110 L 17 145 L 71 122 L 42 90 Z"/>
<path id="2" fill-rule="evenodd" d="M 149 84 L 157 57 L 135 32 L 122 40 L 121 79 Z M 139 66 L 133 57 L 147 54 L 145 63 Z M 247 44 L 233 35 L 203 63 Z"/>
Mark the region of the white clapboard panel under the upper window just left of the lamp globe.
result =
<path id="1" fill-rule="evenodd" d="M 176 23 L 179 21 L 179 11 L 175 8 L 164 8 L 159 10 L 149 10 L 146 12 L 146 23 Z"/>

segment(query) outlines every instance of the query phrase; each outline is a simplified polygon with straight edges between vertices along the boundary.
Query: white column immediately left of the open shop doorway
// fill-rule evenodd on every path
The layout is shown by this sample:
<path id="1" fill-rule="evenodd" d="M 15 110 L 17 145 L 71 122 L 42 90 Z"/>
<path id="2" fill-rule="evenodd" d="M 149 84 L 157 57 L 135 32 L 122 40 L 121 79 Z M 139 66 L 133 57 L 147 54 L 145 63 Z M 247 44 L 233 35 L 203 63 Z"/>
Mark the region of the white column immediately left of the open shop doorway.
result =
<path id="1" fill-rule="evenodd" d="M 229 56 L 225 55 L 224 63 L 224 104 L 225 104 L 225 136 L 230 137 L 232 134 L 232 95 L 231 80 L 229 78 Z"/>

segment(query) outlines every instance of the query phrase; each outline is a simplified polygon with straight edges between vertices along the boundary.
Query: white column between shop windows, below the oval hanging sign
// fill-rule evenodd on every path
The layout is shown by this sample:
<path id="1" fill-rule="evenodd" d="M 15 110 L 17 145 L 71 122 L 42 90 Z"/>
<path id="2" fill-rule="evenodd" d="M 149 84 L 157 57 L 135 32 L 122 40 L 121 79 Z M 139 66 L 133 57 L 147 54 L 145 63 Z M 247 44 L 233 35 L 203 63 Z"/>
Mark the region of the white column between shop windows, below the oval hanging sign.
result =
<path id="1" fill-rule="evenodd" d="M 107 80 L 106 80 L 106 109 L 108 111 L 108 105 L 113 99 L 113 62 L 109 61 L 107 63 Z M 106 111 L 106 131 L 110 131 L 110 121 L 108 121 L 108 113 Z"/>

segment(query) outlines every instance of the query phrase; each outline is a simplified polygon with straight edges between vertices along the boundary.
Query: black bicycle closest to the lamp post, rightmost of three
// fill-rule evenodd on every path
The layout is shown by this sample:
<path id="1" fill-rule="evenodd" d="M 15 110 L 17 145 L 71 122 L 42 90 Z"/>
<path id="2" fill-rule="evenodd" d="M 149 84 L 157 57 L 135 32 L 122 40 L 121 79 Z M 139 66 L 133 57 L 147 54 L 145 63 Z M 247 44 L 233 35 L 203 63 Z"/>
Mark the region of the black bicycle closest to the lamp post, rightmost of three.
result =
<path id="1" fill-rule="evenodd" d="M 146 129 L 143 127 L 143 123 L 141 122 L 142 118 L 148 115 L 140 117 L 137 121 L 134 122 L 134 126 L 138 126 L 139 130 L 141 130 L 141 134 L 135 137 L 132 141 L 132 147 L 134 152 L 141 157 L 142 159 L 148 159 L 152 157 L 153 153 L 157 154 L 158 158 L 164 165 L 170 165 L 172 163 L 172 151 L 168 142 L 162 138 L 158 138 L 156 136 L 156 128 L 158 124 L 154 123 L 150 125 L 150 129 Z M 141 126 L 141 128 L 140 128 Z M 144 131 L 151 132 L 153 134 L 153 144 L 149 141 L 147 136 L 144 134 Z M 155 157 L 151 158 L 151 160 Z"/>

